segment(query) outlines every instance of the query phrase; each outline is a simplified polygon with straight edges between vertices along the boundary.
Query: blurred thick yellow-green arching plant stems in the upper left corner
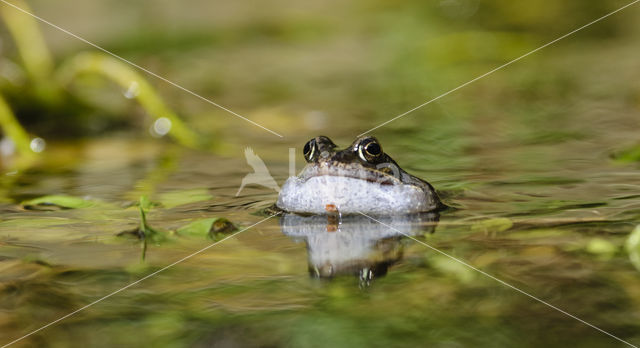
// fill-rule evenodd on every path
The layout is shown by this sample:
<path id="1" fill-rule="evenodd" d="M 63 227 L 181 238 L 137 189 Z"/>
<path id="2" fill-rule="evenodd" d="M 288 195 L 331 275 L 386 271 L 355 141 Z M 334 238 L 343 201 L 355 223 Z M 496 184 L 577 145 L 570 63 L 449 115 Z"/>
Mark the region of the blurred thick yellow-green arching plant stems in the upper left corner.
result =
<path id="1" fill-rule="evenodd" d="M 23 1 L 16 1 L 16 5 L 29 9 Z M 14 9 L 7 6 L 0 6 L 0 15 L 16 44 L 22 63 L 20 67 L 24 70 L 28 80 L 26 86 L 0 86 L 3 87 L 0 88 L 0 91 L 4 91 L 11 97 L 9 102 L 6 102 L 0 96 L 0 127 L 8 139 L 15 144 L 18 156 L 33 156 L 34 152 L 29 151 L 28 133 L 13 116 L 10 107 L 11 100 L 19 99 L 17 104 L 27 108 L 42 104 L 44 109 L 48 111 L 46 114 L 52 115 L 51 117 L 64 115 L 63 117 L 67 120 L 75 118 L 75 122 L 65 122 L 66 131 L 73 129 L 73 127 L 82 127 L 81 125 L 86 120 L 78 121 L 86 118 L 86 115 L 82 113 L 87 109 L 80 107 L 79 103 L 83 102 L 73 95 L 73 89 L 66 87 L 77 76 L 83 74 L 97 74 L 106 77 L 126 90 L 125 96 L 137 100 L 147 114 L 153 118 L 154 121 L 150 127 L 152 134 L 156 136 L 169 135 L 187 147 L 213 149 L 212 146 L 215 142 L 210 137 L 201 137 L 187 126 L 163 102 L 146 79 L 130 66 L 103 53 L 87 52 L 72 56 L 56 68 L 34 18 L 15 13 Z M 20 89 L 19 92 L 18 89 Z M 29 92 L 29 89 L 32 93 Z M 20 109 L 17 110 L 18 113 L 20 111 Z M 44 123 L 54 124 L 55 121 L 47 120 Z"/>

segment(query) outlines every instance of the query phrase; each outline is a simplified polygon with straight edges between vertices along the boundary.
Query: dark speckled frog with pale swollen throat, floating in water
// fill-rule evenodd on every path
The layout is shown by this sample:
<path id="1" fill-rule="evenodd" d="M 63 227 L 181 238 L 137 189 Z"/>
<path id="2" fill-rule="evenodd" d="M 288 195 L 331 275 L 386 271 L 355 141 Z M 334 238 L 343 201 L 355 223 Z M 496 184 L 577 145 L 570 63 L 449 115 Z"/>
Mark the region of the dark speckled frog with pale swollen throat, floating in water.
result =
<path id="1" fill-rule="evenodd" d="M 433 186 L 405 172 L 371 136 L 338 150 L 325 136 L 303 149 L 307 165 L 282 187 L 276 206 L 284 211 L 325 214 L 406 214 L 440 209 Z M 331 208 L 331 209 L 330 209 Z"/>

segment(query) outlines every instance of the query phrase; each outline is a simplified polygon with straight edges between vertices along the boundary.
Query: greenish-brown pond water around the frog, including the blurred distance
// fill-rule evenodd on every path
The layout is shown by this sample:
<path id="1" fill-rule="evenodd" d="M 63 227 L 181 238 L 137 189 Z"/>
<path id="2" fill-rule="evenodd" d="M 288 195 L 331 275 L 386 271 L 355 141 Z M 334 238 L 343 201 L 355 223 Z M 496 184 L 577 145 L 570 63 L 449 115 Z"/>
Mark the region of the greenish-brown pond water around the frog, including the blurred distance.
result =
<path id="1" fill-rule="evenodd" d="M 612 156 L 639 139 L 640 30 L 620 19 L 637 18 L 637 9 L 372 133 L 453 209 L 384 225 L 285 216 L 252 226 L 267 218 L 277 192 L 248 185 L 237 194 L 252 172 L 246 147 L 282 185 L 290 148 L 299 171 L 309 138 L 346 146 L 606 12 L 593 5 L 574 18 L 562 5 L 547 16 L 547 3 L 530 13 L 494 2 L 504 13 L 483 7 L 476 23 L 417 1 L 355 3 L 344 12 L 337 3 L 290 8 L 289 21 L 229 5 L 239 7 L 229 18 L 210 11 L 220 27 L 194 26 L 184 37 L 176 30 L 170 41 L 186 44 L 173 50 L 164 24 L 133 30 L 132 17 L 123 28 L 134 33 L 119 34 L 129 41 L 115 37 L 109 48 L 162 66 L 284 138 L 171 86 L 157 88 L 188 124 L 215 134 L 216 151 L 185 149 L 141 127 L 77 141 L 43 135 L 40 162 L 0 179 L 0 345 L 162 270 L 14 346 L 625 346 L 445 254 L 640 345 L 640 246 L 626 247 L 640 223 L 640 167 Z M 167 21 L 171 8 L 162 12 Z M 56 13 L 54 22 L 68 19 Z M 211 21 L 195 14 L 183 21 Z M 94 20 L 80 17 L 89 27 Z M 116 27 L 103 17 L 109 29 L 92 30 Z M 487 31 L 469 31 L 475 24 Z M 219 37 L 192 33 L 214 29 Z M 149 121 L 113 86 L 88 86 L 78 94 L 104 98 L 123 119 Z M 71 207 L 25 203 L 50 195 L 67 196 L 58 202 Z M 157 230 L 146 244 L 122 233 L 140 226 L 143 196 Z M 211 236 L 190 225 L 212 218 L 240 232 Z"/>

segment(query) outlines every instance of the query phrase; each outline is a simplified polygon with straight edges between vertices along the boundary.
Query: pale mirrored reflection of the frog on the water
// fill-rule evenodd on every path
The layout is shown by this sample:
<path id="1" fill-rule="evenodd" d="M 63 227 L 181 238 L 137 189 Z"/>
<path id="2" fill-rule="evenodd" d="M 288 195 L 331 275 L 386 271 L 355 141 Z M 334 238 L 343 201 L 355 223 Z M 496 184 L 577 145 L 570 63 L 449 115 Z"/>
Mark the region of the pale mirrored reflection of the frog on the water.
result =
<path id="1" fill-rule="evenodd" d="M 307 245 L 309 274 L 316 278 L 357 276 L 361 284 L 386 275 L 403 257 L 406 236 L 433 233 L 437 213 L 380 216 L 284 214 L 282 233 Z"/>

